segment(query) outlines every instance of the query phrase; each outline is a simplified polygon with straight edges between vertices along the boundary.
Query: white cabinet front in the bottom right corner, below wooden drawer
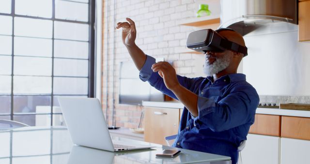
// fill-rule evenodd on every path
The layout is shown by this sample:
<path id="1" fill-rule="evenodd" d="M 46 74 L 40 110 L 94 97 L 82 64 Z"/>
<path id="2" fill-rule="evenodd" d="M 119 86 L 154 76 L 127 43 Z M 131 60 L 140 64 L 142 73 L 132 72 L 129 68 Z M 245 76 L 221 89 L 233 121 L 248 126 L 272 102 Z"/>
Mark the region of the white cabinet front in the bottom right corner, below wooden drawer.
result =
<path id="1" fill-rule="evenodd" d="M 310 141 L 281 138 L 281 164 L 309 164 Z"/>

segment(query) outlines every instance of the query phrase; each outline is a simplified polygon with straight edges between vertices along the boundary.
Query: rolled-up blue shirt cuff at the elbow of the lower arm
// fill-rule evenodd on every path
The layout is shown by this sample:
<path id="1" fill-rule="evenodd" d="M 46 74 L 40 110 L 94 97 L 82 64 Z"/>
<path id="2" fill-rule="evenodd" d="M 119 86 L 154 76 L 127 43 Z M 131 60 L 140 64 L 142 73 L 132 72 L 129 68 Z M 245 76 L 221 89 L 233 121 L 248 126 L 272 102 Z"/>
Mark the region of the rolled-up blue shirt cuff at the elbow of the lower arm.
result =
<path id="1" fill-rule="evenodd" d="M 192 115 L 192 118 L 194 120 L 199 119 L 203 117 L 204 115 L 208 115 L 215 110 L 215 101 L 213 99 L 204 98 L 199 96 L 197 101 L 197 107 L 198 107 L 198 116 L 194 117 Z"/>

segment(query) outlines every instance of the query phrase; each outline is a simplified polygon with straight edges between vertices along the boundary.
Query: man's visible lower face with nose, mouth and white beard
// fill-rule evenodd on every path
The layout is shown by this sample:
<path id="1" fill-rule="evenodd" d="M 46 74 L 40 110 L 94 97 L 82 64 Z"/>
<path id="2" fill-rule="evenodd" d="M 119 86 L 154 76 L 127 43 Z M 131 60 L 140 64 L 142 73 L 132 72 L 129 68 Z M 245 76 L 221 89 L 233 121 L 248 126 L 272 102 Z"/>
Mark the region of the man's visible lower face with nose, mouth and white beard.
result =
<path id="1" fill-rule="evenodd" d="M 231 61 L 231 54 L 229 50 L 223 52 L 207 51 L 205 53 L 205 63 L 203 65 L 203 72 L 207 76 L 213 76 L 218 72 L 226 69 Z"/>

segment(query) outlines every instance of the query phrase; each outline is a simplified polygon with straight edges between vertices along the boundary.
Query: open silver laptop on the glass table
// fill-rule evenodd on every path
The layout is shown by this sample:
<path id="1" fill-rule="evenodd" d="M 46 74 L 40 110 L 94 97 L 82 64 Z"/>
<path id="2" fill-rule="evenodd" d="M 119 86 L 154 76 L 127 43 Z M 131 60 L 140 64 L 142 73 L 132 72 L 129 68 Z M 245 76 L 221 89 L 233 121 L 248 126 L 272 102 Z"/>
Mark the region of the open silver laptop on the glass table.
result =
<path id="1" fill-rule="evenodd" d="M 101 104 L 97 98 L 58 98 L 72 142 L 108 151 L 153 148 L 147 145 L 112 141 Z"/>

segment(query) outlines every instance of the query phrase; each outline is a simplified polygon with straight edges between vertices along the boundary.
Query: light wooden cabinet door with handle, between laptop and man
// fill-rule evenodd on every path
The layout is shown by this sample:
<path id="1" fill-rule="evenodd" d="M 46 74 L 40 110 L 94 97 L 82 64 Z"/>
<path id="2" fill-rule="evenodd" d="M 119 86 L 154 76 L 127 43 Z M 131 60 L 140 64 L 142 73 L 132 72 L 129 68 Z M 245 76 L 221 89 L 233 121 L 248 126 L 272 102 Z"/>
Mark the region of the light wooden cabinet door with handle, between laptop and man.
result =
<path id="1" fill-rule="evenodd" d="M 165 137 L 178 133 L 180 109 L 145 108 L 144 141 L 167 145 Z"/>

